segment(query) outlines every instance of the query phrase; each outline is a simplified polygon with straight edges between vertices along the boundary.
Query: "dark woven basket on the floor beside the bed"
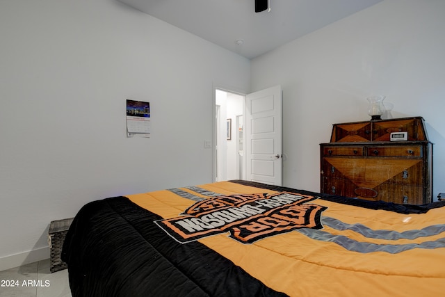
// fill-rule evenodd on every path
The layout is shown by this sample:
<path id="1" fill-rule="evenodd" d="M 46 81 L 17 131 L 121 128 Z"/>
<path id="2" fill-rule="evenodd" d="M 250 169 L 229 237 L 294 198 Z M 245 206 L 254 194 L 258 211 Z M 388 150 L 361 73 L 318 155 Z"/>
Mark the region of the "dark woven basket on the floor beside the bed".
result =
<path id="1" fill-rule="evenodd" d="M 49 225 L 48 242 L 51 256 L 49 258 L 49 271 L 56 272 L 67 268 L 67 264 L 60 259 L 62 254 L 63 241 L 70 229 L 73 218 L 63 220 L 53 220 Z"/>

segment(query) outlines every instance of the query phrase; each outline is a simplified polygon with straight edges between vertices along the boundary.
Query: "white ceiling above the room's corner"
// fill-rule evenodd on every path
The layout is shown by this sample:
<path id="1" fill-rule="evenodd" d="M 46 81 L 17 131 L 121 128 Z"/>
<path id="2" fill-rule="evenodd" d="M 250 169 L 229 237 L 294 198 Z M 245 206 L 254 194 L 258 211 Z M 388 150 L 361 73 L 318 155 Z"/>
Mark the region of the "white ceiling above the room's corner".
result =
<path id="1" fill-rule="evenodd" d="M 118 0 L 205 40 L 255 58 L 382 0 Z"/>

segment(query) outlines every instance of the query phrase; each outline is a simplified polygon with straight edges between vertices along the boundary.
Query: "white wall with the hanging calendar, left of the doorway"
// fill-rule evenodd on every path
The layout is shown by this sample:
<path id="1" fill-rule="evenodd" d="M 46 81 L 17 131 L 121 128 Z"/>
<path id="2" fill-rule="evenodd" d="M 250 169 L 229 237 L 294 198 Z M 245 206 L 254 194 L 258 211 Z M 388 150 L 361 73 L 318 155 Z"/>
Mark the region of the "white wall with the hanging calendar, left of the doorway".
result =
<path id="1" fill-rule="evenodd" d="M 0 1 L 0 270 L 86 202 L 212 181 L 213 86 L 250 61 L 114 0 Z M 125 99 L 152 137 L 127 138 Z"/>

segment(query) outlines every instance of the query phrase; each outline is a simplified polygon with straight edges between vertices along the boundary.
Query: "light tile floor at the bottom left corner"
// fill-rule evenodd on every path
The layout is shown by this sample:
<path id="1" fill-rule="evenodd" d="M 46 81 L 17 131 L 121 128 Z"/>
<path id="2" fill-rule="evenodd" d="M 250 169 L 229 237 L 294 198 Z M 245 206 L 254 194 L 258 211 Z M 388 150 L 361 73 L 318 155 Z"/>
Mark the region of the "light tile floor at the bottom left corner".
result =
<path id="1" fill-rule="evenodd" d="M 50 273 L 49 259 L 0 271 L 0 297 L 3 296 L 71 297 L 68 271 Z"/>

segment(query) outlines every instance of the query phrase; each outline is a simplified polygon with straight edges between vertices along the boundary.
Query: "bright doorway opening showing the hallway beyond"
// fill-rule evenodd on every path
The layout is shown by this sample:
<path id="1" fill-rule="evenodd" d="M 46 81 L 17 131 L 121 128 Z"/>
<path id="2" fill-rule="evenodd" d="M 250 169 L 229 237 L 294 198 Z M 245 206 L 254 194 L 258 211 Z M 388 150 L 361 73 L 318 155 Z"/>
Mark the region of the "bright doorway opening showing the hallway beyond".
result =
<path id="1" fill-rule="evenodd" d="M 215 180 L 245 179 L 245 95 L 215 89 Z"/>

